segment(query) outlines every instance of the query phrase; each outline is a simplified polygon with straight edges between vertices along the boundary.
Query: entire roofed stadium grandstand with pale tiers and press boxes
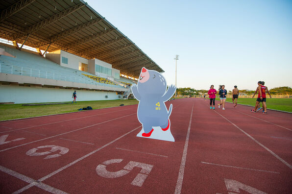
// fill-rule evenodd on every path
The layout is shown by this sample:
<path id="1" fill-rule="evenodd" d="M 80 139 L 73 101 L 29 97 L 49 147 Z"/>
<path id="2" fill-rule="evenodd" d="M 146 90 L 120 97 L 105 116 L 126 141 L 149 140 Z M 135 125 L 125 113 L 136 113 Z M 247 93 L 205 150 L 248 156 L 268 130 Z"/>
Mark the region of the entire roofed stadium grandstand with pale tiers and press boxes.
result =
<path id="1" fill-rule="evenodd" d="M 83 0 L 1 0 L 0 102 L 133 98 L 143 67 L 164 71 Z"/>

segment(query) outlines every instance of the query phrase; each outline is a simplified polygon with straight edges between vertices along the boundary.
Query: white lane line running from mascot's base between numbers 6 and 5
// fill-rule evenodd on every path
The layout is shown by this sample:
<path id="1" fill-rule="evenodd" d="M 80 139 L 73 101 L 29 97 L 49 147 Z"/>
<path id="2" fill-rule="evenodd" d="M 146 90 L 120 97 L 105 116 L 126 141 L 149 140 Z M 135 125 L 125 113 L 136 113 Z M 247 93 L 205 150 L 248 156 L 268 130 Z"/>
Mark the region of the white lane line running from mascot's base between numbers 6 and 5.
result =
<path id="1" fill-rule="evenodd" d="M 136 113 L 135 113 L 135 114 L 136 114 Z M 68 164 L 68 165 L 66 165 L 66 166 L 64 166 L 64 167 L 62 167 L 62 168 L 60 168 L 60 169 L 58 169 L 58 170 L 53 171 L 52 173 L 48 174 L 47 176 L 44 176 L 43 178 L 40 178 L 38 181 L 44 181 L 44 180 L 48 179 L 49 177 L 51 177 L 51 176 L 53 176 L 53 175 L 59 173 L 60 171 L 65 170 L 65 169 L 67 169 L 68 167 L 71 167 L 73 164 L 76 164 L 77 162 L 83 160 L 84 158 L 87 158 L 88 156 L 90 156 L 90 155 L 96 153 L 97 151 L 103 149 L 104 147 L 113 144 L 114 142 L 120 140 L 120 139 L 123 138 L 124 136 L 126 136 L 126 135 L 132 133 L 133 131 L 135 131 L 135 130 L 137 130 L 137 129 L 139 129 L 140 127 L 142 127 L 142 125 L 136 127 L 135 129 L 133 129 L 133 130 L 131 130 L 131 131 L 125 133 L 125 134 L 123 134 L 122 136 L 118 137 L 117 139 L 115 139 L 115 140 L 113 140 L 113 141 L 111 141 L 111 142 L 109 142 L 109 143 L 107 143 L 107 144 L 105 144 L 105 145 L 102 145 L 102 146 L 99 147 L 98 149 L 96 149 L 96 150 L 94 150 L 94 151 L 92 151 L 92 152 L 90 152 L 90 153 L 88 153 L 88 154 L 82 156 L 81 158 L 78 158 L 77 160 L 74 160 L 74 161 L 71 162 L 70 164 Z M 25 190 L 28 189 L 28 188 L 30 188 L 30 187 L 32 187 L 32 186 L 33 186 L 32 184 L 26 186 L 26 187 L 25 187 Z M 22 188 L 22 190 L 25 191 L 24 188 Z"/>

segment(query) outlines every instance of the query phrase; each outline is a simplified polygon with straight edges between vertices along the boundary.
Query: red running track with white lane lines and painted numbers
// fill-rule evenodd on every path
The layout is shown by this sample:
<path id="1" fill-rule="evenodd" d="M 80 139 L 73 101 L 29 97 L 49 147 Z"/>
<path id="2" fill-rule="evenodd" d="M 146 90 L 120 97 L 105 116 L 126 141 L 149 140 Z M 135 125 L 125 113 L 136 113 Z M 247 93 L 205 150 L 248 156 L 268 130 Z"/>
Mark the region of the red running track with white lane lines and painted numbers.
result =
<path id="1" fill-rule="evenodd" d="M 292 193 L 292 114 L 170 103 L 175 142 L 136 137 L 137 105 L 0 122 L 1 193 Z"/>

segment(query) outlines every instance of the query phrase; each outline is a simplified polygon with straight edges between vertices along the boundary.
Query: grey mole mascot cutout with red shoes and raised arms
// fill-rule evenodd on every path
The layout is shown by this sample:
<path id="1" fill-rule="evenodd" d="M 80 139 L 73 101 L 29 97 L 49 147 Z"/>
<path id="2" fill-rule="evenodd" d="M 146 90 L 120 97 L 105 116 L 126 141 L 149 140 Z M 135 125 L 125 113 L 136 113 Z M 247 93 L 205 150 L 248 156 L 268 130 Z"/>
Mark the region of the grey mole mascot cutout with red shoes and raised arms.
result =
<path id="1" fill-rule="evenodd" d="M 132 93 L 139 100 L 138 120 L 143 128 L 137 137 L 174 142 L 170 132 L 170 114 L 164 102 L 173 96 L 176 87 L 167 90 L 166 80 L 162 74 L 142 68 L 137 85 L 132 85 Z"/>

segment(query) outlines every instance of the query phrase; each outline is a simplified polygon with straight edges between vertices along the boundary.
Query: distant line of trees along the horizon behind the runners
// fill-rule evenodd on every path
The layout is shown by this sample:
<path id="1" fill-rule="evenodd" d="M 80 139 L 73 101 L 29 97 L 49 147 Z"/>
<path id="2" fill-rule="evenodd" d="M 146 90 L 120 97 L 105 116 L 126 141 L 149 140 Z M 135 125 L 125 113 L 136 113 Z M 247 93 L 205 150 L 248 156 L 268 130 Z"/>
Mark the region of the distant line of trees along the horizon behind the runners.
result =
<path id="1" fill-rule="evenodd" d="M 195 90 L 194 88 L 177 88 L 176 89 L 177 95 L 189 95 L 189 96 L 195 96 L 195 95 L 204 95 L 208 94 L 208 90 Z M 244 95 L 253 95 L 255 93 L 255 90 L 239 90 L 240 94 Z M 269 89 L 269 93 L 271 95 L 292 95 L 292 88 L 285 86 L 285 87 L 276 87 Z M 228 91 L 228 94 L 232 94 L 232 91 Z"/>

